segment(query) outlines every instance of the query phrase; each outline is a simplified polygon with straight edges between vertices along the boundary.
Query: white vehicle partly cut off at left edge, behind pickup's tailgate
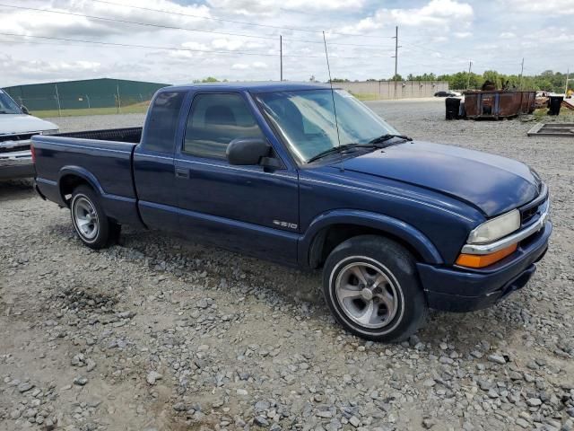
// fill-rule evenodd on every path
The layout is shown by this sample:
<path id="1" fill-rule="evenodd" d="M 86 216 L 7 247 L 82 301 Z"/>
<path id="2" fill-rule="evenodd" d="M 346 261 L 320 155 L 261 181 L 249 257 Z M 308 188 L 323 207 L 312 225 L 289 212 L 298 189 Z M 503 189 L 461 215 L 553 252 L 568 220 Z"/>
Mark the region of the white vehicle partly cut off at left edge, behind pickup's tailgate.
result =
<path id="1" fill-rule="evenodd" d="M 31 136 L 58 131 L 56 124 L 32 117 L 24 106 L 18 106 L 0 90 L 0 180 L 33 177 Z"/>

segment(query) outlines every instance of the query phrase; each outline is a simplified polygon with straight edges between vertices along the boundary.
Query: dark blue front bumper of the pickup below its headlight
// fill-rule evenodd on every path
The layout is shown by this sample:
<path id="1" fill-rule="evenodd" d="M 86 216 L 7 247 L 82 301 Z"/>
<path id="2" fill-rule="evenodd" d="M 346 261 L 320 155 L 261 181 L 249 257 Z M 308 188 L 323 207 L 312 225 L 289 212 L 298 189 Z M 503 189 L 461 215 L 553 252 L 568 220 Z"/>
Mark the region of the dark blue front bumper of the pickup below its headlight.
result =
<path id="1" fill-rule="evenodd" d="M 552 233 L 547 220 L 542 229 L 518 244 L 508 258 L 483 269 L 417 264 L 431 308 L 448 312 L 481 310 L 524 287 L 544 257 Z"/>

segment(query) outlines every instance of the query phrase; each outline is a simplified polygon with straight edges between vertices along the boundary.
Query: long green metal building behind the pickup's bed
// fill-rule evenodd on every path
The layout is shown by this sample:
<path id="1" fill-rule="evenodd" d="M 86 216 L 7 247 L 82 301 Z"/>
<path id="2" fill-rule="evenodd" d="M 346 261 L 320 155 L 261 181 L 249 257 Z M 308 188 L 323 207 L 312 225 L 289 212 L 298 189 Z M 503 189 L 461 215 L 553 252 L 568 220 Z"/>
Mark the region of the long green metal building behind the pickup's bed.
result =
<path id="1" fill-rule="evenodd" d="M 154 92 L 168 85 L 101 78 L 14 85 L 3 90 L 29 110 L 78 110 L 145 103 L 152 99 Z"/>

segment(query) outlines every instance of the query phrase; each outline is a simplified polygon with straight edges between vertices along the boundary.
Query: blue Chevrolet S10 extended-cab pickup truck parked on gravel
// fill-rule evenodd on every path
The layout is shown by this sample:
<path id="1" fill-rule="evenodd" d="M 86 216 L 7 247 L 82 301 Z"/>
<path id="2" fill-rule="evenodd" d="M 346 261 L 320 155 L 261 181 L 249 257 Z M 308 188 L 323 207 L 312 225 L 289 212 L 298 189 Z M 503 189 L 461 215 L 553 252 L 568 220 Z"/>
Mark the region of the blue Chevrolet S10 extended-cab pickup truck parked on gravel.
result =
<path id="1" fill-rule="evenodd" d="M 336 113 L 336 115 L 335 115 Z M 409 337 L 526 285 L 552 232 L 523 163 L 400 135 L 319 84 L 166 87 L 143 128 L 32 137 L 36 187 L 100 249 L 122 224 L 323 270 L 365 339 Z"/>

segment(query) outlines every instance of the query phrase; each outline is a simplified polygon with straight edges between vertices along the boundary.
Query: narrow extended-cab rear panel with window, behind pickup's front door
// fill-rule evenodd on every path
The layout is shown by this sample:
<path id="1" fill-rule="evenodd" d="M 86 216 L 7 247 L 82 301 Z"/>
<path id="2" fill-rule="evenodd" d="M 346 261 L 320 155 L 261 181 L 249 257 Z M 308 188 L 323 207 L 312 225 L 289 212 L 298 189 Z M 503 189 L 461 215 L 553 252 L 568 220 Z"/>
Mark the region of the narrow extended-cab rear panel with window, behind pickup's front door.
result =
<path id="1" fill-rule="evenodd" d="M 143 223 L 152 229 L 178 230 L 174 158 L 181 105 L 186 92 L 160 92 L 145 119 L 134 152 L 134 180 Z"/>

